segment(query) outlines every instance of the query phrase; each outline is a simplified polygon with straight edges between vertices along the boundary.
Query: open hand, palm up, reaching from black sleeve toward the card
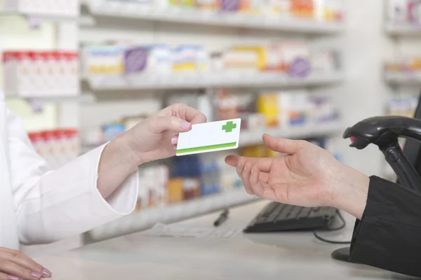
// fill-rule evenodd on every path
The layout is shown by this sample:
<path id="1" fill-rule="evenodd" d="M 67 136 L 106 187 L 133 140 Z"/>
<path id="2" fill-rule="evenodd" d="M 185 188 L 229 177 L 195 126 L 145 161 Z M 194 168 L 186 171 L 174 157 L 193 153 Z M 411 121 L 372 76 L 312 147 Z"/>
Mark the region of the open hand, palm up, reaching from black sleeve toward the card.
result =
<path id="1" fill-rule="evenodd" d="M 302 207 L 331 206 L 361 217 L 367 199 L 367 176 L 307 141 L 268 135 L 263 141 L 269 149 L 288 155 L 226 158 L 228 165 L 236 167 L 250 195 Z"/>

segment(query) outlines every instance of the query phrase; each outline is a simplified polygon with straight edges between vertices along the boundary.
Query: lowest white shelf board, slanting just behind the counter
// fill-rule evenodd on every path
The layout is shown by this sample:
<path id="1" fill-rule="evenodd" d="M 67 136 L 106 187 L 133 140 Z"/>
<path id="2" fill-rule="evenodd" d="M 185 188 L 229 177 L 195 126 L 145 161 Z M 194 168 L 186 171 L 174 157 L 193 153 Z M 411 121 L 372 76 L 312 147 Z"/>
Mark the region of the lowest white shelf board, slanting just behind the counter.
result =
<path id="1" fill-rule="evenodd" d="M 220 193 L 218 195 L 209 195 L 172 206 L 146 209 L 133 213 L 107 225 L 103 225 L 100 228 L 91 230 L 89 235 L 93 240 L 98 241 L 119 235 L 126 235 L 131 232 L 147 230 L 156 225 L 156 223 L 175 223 L 187 218 L 219 211 L 227 207 L 235 207 L 255 200 L 258 200 L 258 198 L 248 195 L 243 188 L 229 190 L 226 193 Z"/>

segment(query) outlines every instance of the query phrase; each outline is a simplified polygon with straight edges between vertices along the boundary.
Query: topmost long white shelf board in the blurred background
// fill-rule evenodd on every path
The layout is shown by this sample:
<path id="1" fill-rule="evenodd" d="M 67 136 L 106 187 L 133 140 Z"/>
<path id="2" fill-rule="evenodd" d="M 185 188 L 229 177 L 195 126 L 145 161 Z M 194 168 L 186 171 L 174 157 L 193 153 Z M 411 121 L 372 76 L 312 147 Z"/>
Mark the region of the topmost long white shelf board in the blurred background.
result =
<path id="1" fill-rule="evenodd" d="M 108 1 L 98 5 L 85 3 L 93 17 L 126 18 L 156 22 L 208 25 L 214 27 L 234 27 L 266 29 L 274 31 L 294 31 L 304 34 L 335 34 L 343 29 L 342 23 L 316 20 L 285 20 L 265 16 L 250 16 L 240 13 L 211 13 L 209 11 L 182 8 L 159 8 L 136 3 Z"/>

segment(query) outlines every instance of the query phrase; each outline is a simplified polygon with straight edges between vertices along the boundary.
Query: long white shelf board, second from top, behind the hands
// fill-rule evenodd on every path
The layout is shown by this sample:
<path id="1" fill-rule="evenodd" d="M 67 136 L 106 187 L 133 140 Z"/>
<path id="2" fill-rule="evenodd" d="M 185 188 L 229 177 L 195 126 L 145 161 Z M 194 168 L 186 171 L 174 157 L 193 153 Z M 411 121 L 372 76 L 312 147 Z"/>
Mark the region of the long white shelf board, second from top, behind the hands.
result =
<path id="1" fill-rule="evenodd" d="M 290 78 L 280 74 L 242 74 L 237 76 L 167 78 L 161 80 L 141 78 L 84 78 L 94 92 L 109 90 L 187 90 L 208 87 L 312 87 L 340 83 L 342 73 L 312 74 L 307 78 Z"/>

